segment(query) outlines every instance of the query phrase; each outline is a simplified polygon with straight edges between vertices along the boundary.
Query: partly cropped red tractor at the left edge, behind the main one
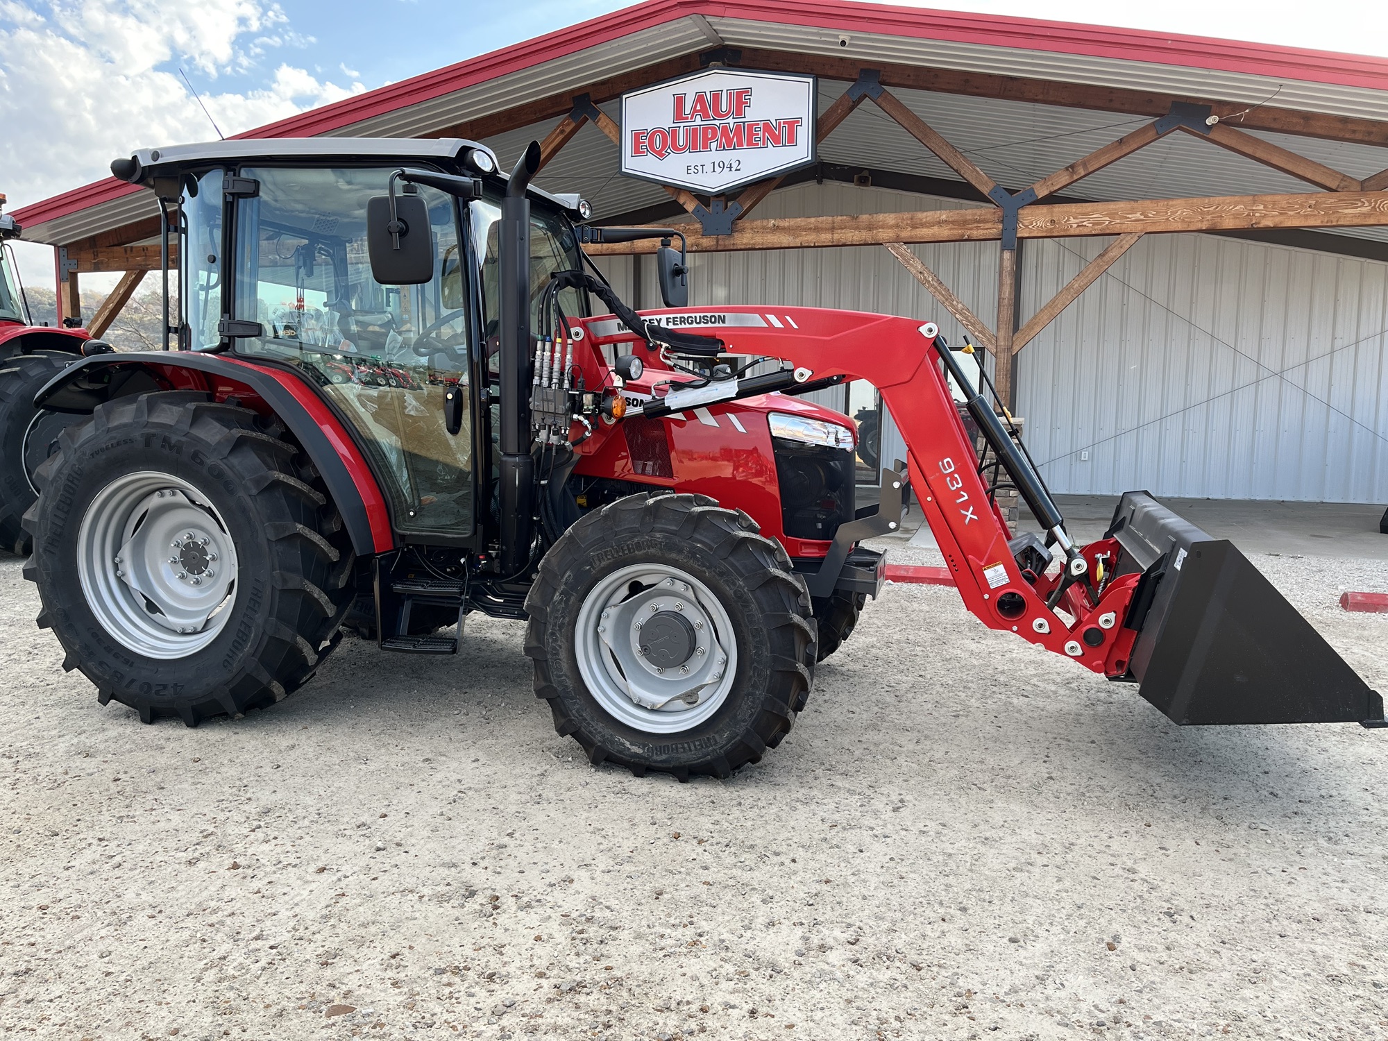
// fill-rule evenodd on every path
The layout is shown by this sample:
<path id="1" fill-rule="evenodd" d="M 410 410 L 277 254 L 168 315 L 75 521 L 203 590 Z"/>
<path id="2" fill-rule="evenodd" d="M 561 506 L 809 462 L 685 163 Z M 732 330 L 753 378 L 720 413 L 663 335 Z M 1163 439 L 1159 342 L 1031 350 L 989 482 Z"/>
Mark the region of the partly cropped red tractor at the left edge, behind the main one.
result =
<path id="1" fill-rule="evenodd" d="M 58 430 L 85 422 L 36 409 L 33 396 L 81 357 L 87 335 L 33 325 L 8 244 L 24 229 L 4 212 L 4 203 L 0 196 L 0 550 L 24 554 L 29 539 L 19 522 L 39 494 L 33 471 L 47 458 Z"/>

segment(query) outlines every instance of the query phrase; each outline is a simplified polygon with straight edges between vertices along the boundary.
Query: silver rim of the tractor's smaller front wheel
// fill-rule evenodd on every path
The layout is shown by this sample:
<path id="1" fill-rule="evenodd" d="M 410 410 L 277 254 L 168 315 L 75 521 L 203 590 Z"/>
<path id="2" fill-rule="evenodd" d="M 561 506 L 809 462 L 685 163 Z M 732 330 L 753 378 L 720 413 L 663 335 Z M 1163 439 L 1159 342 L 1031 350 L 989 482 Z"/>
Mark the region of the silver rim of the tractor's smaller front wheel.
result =
<path id="1" fill-rule="evenodd" d="M 634 564 L 583 600 L 579 675 L 602 711 L 652 734 L 709 719 L 737 677 L 733 620 L 712 590 L 663 564 Z"/>

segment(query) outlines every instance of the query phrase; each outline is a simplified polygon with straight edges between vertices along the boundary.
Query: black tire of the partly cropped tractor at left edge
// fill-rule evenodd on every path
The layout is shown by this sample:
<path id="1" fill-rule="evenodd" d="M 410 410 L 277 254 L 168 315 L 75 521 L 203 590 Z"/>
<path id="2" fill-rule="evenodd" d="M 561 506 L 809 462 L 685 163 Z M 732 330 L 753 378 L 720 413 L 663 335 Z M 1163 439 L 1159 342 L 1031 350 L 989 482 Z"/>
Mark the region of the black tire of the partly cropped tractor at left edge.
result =
<path id="1" fill-rule="evenodd" d="M 0 362 L 0 550 L 29 552 L 24 512 L 39 497 L 33 472 L 51 452 L 58 433 L 85 423 L 85 415 L 39 412 L 33 396 L 81 355 L 37 350 Z"/>

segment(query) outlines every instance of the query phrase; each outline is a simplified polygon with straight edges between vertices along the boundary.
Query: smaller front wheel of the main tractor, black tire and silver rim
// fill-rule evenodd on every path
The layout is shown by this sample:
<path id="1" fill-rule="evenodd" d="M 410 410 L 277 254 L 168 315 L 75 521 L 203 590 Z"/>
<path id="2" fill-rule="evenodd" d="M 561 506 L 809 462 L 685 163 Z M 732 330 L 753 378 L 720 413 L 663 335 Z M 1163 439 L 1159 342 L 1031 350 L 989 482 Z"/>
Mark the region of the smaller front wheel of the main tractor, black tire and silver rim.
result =
<path id="1" fill-rule="evenodd" d="M 526 611 L 536 695 L 594 766 L 729 777 L 780 744 L 813 683 L 804 582 L 706 496 L 594 509 L 545 554 Z"/>

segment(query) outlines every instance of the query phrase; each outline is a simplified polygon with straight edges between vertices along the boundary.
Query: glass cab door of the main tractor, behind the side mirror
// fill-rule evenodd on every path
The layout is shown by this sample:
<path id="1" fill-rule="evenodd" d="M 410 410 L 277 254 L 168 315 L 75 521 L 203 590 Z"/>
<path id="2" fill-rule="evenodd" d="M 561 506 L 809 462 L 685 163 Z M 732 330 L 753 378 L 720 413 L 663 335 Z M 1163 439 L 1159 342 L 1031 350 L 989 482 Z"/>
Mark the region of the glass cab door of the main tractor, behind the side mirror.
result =
<path id="1" fill-rule="evenodd" d="M 294 365 L 321 387 L 358 434 L 397 530 L 455 543 L 476 530 L 472 265 L 457 203 L 425 187 L 433 279 L 372 278 L 366 201 L 386 194 L 390 169 L 240 171 L 255 187 L 236 200 L 233 316 L 260 335 L 236 350 Z M 462 416 L 451 433 L 454 387 Z"/>

